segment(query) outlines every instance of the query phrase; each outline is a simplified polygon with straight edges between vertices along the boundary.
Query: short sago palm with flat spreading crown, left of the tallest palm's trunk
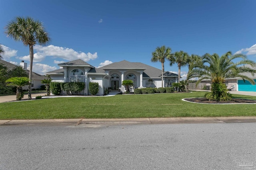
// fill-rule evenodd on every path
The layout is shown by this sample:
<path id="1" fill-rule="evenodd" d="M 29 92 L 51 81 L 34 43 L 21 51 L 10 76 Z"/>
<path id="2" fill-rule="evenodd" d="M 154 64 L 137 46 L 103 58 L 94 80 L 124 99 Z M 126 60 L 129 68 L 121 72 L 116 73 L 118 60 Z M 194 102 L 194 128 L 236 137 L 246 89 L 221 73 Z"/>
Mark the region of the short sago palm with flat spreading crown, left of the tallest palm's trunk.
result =
<path id="1" fill-rule="evenodd" d="M 17 87 L 16 90 L 16 100 L 22 100 L 24 97 L 24 92 L 22 90 L 22 86 L 26 86 L 30 84 L 29 78 L 27 77 L 12 77 L 6 80 L 8 84 L 7 86 L 15 86 Z"/>

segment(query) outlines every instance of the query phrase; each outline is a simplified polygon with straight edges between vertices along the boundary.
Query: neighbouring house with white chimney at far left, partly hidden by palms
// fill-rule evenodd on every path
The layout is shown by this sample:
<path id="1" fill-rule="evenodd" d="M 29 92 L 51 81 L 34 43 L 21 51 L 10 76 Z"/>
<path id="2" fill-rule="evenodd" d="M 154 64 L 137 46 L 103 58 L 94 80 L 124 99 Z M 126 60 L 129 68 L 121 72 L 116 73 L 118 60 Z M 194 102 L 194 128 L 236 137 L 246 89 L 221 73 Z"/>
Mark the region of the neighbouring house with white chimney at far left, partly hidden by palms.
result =
<path id="1" fill-rule="evenodd" d="M 9 63 L 9 62 L 4 61 L 4 60 L 0 60 L 0 63 L 2 63 L 4 66 L 6 66 L 8 68 L 8 70 L 12 70 L 14 67 L 17 66 L 15 64 Z M 23 69 L 26 70 L 29 73 L 29 70 L 27 70 L 27 63 L 24 63 L 24 61 L 22 61 L 20 63 L 20 66 L 22 66 Z M 42 76 L 40 74 L 37 74 L 35 72 L 32 72 L 32 82 L 31 82 L 32 83 L 31 84 L 32 89 L 37 89 L 37 88 L 40 88 L 40 86 L 44 85 L 44 84 L 41 83 L 41 80 L 44 80 L 44 79 L 47 79 L 47 77 Z M 27 90 L 28 86 L 24 86 L 22 88 L 23 88 L 23 90 Z"/>

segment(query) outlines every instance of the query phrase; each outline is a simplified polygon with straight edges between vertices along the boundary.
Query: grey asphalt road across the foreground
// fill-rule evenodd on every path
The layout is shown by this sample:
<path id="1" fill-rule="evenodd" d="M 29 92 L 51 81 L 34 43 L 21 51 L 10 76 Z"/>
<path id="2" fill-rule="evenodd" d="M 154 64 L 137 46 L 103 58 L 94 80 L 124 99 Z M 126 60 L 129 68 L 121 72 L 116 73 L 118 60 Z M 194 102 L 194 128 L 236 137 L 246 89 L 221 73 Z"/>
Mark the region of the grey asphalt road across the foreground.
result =
<path id="1" fill-rule="evenodd" d="M 0 126 L 0 170 L 256 169 L 256 123 Z"/>

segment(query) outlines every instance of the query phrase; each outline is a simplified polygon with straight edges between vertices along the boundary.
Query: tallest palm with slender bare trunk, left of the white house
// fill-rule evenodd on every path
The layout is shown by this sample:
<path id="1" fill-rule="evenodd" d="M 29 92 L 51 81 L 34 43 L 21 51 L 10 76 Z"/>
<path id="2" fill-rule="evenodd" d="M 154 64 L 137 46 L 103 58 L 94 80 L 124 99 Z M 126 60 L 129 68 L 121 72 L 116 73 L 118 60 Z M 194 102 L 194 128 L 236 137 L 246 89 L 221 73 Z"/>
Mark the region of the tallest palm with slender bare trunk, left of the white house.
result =
<path id="1" fill-rule="evenodd" d="M 22 41 L 25 46 L 29 46 L 29 80 L 31 82 L 34 58 L 33 46 L 36 44 L 48 45 L 50 43 L 50 37 L 44 29 L 43 23 L 30 17 L 16 17 L 6 25 L 5 34 L 15 41 Z M 31 84 L 28 87 L 28 99 L 31 99 Z"/>

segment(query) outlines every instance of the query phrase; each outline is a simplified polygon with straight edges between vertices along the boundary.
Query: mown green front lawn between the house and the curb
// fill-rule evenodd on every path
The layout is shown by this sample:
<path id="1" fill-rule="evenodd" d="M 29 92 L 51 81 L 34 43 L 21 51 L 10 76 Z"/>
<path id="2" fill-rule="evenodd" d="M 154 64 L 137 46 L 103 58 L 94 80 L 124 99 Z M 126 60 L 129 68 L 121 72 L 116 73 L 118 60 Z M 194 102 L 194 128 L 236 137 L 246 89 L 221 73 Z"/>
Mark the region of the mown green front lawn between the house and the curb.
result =
<path id="1" fill-rule="evenodd" d="M 48 98 L 0 104 L 0 119 L 256 116 L 254 104 L 210 105 L 182 101 L 205 92 Z M 256 96 L 233 95 L 256 100 Z"/>

